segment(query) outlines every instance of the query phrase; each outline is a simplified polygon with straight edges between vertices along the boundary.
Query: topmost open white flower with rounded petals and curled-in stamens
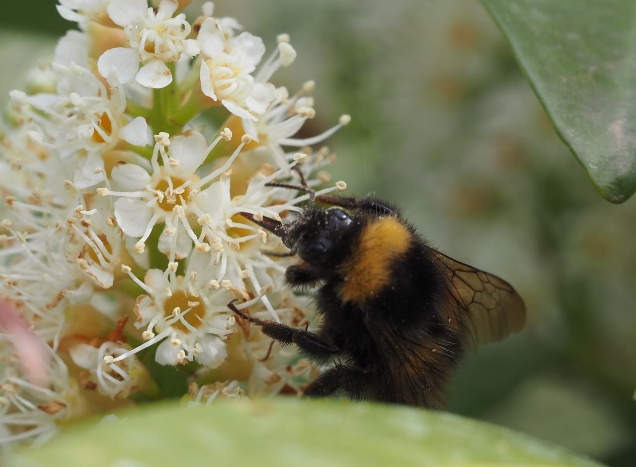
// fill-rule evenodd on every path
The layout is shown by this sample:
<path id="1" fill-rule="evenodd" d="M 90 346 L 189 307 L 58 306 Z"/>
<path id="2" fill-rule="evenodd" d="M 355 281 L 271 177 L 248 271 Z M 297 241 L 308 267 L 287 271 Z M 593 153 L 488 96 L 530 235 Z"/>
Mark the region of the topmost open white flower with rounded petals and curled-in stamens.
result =
<path id="1" fill-rule="evenodd" d="M 146 0 L 111 0 L 108 15 L 124 28 L 130 47 L 104 52 L 97 62 L 99 73 L 109 78 L 114 69 L 121 83 L 137 81 L 148 88 L 163 88 L 172 83 L 166 63 L 200 52 L 195 39 L 186 39 L 191 30 L 186 16 L 180 13 L 172 18 L 177 8 L 176 0 L 161 0 L 156 11 L 148 8 Z"/>

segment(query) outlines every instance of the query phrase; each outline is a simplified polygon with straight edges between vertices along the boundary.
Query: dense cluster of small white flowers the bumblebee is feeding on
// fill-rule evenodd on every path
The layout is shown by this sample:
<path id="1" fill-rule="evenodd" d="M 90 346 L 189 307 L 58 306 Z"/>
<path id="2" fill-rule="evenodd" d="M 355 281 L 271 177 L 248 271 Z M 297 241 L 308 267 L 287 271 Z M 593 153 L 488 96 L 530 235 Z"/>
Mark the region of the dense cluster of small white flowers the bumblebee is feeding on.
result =
<path id="1" fill-rule="evenodd" d="M 46 440 L 132 394 L 181 390 L 211 403 L 296 393 L 317 371 L 226 305 L 239 298 L 254 316 L 307 322 L 305 298 L 282 286 L 293 260 L 266 254 L 285 250 L 240 213 L 300 211 L 308 195 L 268 183 L 328 184 L 332 157 L 310 146 L 349 116 L 294 137 L 315 116 L 314 83 L 293 95 L 270 83 L 296 57 L 289 37 L 263 61 L 263 41 L 237 20 L 206 3 L 190 24 L 187 3 L 60 0 L 81 31 L 60 39 L 48 88 L 10 94 L 0 309 L 24 321 L 50 363 L 46 380 L 29 379 L 28 352 L 3 331 L 0 442 Z M 207 122 L 218 128 L 207 137 L 193 118 L 215 106 L 226 115 Z"/>

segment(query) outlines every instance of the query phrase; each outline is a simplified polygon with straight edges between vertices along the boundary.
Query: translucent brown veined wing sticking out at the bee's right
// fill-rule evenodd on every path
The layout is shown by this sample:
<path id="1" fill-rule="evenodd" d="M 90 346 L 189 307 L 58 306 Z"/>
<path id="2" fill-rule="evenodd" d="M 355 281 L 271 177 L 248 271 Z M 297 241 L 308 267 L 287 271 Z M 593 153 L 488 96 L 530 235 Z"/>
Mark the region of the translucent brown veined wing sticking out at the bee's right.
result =
<path id="1" fill-rule="evenodd" d="M 523 328 L 525 305 L 513 286 L 439 251 L 431 252 L 447 279 L 441 319 L 459 331 L 462 344 L 474 350 Z"/>

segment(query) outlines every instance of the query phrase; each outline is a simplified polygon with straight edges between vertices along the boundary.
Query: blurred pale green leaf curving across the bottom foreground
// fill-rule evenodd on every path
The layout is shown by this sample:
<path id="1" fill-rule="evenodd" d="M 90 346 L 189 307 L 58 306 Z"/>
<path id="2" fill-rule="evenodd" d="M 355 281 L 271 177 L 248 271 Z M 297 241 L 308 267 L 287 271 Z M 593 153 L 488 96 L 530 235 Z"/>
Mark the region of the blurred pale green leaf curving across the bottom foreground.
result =
<path id="1" fill-rule="evenodd" d="M 599 464 L 445 412 L 338 400 L 153 405 L 76 426 L 11 466 L 578 466 Z M 13 463 L 12 463 L 13 462 Z"/>

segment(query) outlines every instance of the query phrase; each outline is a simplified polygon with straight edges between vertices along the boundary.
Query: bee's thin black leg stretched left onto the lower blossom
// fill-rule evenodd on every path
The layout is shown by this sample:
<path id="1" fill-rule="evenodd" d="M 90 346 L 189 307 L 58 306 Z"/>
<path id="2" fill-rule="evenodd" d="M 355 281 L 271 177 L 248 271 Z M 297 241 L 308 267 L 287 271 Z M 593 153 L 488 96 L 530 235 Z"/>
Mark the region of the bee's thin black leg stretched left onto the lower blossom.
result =
<path id="1" fill-rule="evenodd" d="M 249 314 L 239 310 L 233 301 L 228 303 L 228 308 L 242 317 L 242 319 L 261 326 L 263 333 L 274 340 L 282 344 L 296 344 L 302 352 L 310 357 L 321 359 L 340 352 L 338 347 L 326 342 L 326 340 L 317 333 L 302 328 L 293 328 L 292 326 L 287 326 L 287 324 L 249 316 Z"/>

